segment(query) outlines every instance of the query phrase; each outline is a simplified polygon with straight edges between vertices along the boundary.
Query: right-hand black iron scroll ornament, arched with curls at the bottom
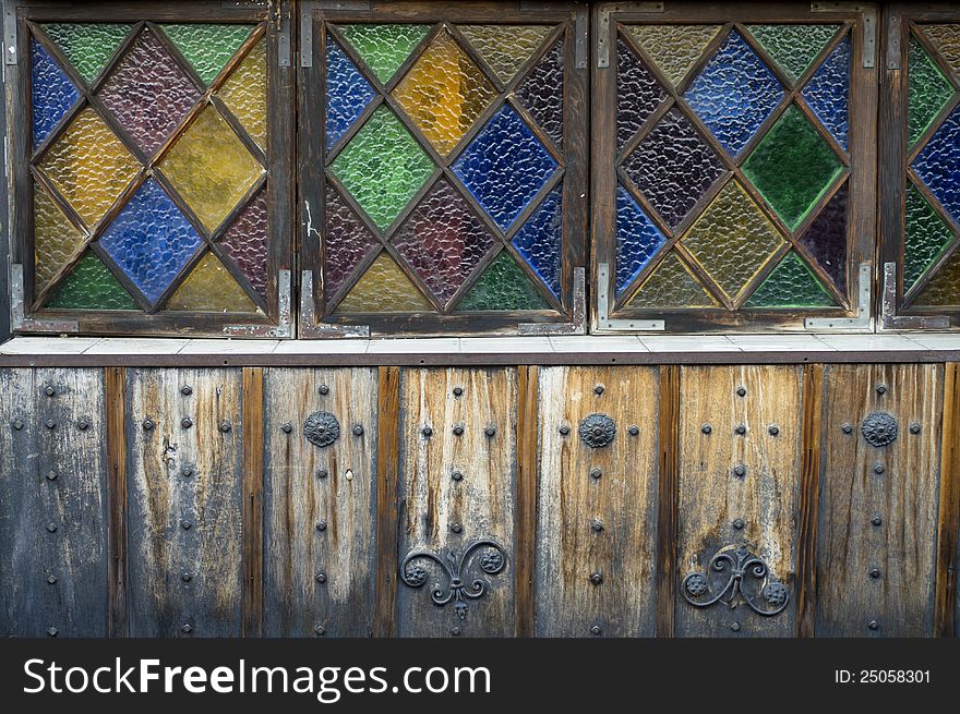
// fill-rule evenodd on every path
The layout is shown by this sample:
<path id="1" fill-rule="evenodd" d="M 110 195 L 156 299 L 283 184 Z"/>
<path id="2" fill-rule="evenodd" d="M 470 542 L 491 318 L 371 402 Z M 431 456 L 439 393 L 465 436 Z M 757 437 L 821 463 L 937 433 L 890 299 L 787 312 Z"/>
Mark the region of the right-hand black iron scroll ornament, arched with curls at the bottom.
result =
<path id="1" fill-rule="evenodd" d="M 707 573 L 716 576 L 710 578 Z M 710 558 L 707 573 L 692 572 L 683 579 L 683 597 L 691 605 L 709 607 L 722 600 L 733 609 L 746 603 L 758 615 L 770 617 L 782 613 L 790 601 L 787 586 L 773 580 L 767 564 L 744 545 L 729 545 L 719 550 Z M 723 578 L 727 578 L 725 583 Z M 717 583 L 723 586 L 717 589 L 713 586 Z"/>

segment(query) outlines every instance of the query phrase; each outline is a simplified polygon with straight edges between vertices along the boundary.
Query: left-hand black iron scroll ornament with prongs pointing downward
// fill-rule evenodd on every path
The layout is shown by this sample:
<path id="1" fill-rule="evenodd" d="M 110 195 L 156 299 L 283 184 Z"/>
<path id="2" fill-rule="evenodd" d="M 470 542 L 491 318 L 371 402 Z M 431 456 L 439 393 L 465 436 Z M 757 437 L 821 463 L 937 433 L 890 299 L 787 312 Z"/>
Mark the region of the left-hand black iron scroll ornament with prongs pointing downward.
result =
<path id="1" fill-rule="evenodd" d="M 446 576 L 447 586 L 436 588 L 430 593 L 430 597 L 439 607 L 453 603 L 454 610 L 463 620 L 467 618 L 467 602 L 482 597 L 490 584 L 480 578 L 473 579 L 469 584 L 466 582 L 470 567 L 477 562 L 477 555 L 480 556 L 480 569 L 488 576 L 497 574 L 506 565 L 506 554 L 500 544 L 482 538 L 468 545 L 460 556 L 456 556 L 453 550 L 447 550 L 443 557 L 431 550 L 412 550 L 400 565 L 400 579 L 410 588 L 420 588 L 427 582 L 428 573 L 413 561 L 433 560 L 439 564 Z"/>

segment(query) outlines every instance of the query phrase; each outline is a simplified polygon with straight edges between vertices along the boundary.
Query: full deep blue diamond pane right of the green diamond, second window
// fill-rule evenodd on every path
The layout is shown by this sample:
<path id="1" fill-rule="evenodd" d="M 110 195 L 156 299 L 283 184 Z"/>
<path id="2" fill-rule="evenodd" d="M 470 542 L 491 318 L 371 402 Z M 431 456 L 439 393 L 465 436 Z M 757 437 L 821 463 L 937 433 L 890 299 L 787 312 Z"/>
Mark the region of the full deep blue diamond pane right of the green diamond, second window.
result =
<path id="1" fill-rule="evenodd" d="M 556 170 L 556 161 L 504 105 L 453 166 L 464 185 L 506 230 Z"/>

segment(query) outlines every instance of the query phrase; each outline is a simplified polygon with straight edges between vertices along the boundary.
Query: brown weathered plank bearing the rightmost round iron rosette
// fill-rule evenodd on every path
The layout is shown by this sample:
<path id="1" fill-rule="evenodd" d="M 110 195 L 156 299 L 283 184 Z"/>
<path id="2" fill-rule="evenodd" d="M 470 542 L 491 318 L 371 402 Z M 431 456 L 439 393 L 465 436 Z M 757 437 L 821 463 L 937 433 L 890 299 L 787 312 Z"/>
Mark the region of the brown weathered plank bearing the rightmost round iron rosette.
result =
<path id="1" fill-rule="evenodd" d="M 943 365 L 826 367 L 818 637 L 933 633 L 943 391 Z M 872 413 L 896 440 L 867 443 Z"/>

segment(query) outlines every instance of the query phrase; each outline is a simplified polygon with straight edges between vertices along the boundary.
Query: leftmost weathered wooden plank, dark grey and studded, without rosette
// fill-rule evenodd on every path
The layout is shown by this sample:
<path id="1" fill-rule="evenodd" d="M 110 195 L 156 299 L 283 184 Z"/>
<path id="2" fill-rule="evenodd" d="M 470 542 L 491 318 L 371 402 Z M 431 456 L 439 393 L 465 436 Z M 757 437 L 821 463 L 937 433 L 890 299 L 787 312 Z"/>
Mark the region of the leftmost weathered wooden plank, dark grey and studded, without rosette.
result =
<path id="1" fill-rule="evenodd" d="M 0 370 L 0 632 L 107 634 L 101 370 Z"/>

